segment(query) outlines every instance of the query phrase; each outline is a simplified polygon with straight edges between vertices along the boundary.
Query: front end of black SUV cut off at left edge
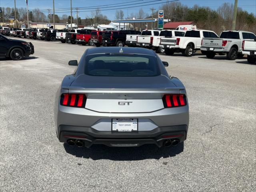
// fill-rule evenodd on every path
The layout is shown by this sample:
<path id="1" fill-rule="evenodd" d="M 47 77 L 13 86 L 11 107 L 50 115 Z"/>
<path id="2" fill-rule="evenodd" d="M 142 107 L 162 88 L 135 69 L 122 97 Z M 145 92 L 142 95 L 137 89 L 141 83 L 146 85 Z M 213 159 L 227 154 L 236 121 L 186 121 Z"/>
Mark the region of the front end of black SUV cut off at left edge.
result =
<path id="1" fill-rule="evenodd" d="M 34 46 L 26 41 L 8 39 L 0 35 L 0 57 L 21 60 L 34 54 Z"/>

